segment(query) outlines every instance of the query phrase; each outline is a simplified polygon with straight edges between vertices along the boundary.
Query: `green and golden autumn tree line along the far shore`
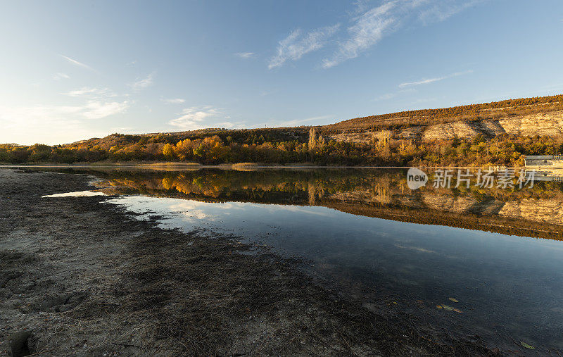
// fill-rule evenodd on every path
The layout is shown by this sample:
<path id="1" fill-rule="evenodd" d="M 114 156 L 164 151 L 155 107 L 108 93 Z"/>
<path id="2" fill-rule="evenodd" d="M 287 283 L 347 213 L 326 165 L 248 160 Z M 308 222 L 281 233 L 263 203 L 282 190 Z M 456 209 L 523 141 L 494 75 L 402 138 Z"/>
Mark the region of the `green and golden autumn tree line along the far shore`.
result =
<path id="1" fill-rule="evenodd" d="M 235 140 L 233 132 L 209 132 L 205 137 L 170 140 L 161 134 L 118 137 L 120 144 L 95 146 L 0 145 L 3 163 L 93 163 L 99 161 L 175 161 L 201 164 L 223 163 L 315 163 L 318 165 L 431 165 L 486 166 L 524 165 L 526 155 L 563 152 L 562 137 L 522 137 L 502 134 L 492 139 L 482 135 L 419 142 L 374 135 L 370 142 L 341 142 L 325 137 L 315 128 L 291 140 L 248 132 Z M 115 134 L 114 134 L 115 135 Z M 252 138 L 252 136 L 254 136 Z M 251 142 L 251 144 L 248 144 Z"/>

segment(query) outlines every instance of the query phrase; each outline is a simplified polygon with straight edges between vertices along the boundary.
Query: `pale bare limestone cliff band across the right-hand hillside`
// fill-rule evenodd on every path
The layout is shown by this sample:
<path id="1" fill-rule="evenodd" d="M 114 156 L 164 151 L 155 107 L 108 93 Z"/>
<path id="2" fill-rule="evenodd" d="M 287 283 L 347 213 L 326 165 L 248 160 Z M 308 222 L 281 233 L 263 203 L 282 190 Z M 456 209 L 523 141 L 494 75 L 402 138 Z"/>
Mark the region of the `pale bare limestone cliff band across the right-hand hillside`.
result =
<path id="1" fill-rule="evenodd" d="M 454 137 L 472 138 L 478 134 L 485 137 L 495 137 L 500 134 L 518 134 L 525 136 L 539 135 L 562 135 L 563 134 L 563 111 L 550 113 L 536 113 L 519 115 L 500 120 L 486 119 L 481 121 L 455 121 L 434 125 L 417 125 L 395 129 L 393 139 L 453 139 Z M 343 132 L 331 134 L 331 139 L 344 142 L 372 141 L 377 132 Z"/>

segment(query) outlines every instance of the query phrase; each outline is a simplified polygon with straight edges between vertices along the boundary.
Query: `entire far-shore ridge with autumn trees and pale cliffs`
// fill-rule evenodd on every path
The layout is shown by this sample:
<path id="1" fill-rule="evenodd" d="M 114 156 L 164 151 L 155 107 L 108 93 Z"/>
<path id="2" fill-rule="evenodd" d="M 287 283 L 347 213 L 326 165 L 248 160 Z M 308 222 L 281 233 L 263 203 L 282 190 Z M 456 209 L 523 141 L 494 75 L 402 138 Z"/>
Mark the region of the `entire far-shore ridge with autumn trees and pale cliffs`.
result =
<path id="1" fill-rule="evenodd" d="M 111 134 L 49 146 L 0 145 L 3 163 L 524 165 L 563 151 L 563 95 L 404 111 L 317 127 Z"/>

